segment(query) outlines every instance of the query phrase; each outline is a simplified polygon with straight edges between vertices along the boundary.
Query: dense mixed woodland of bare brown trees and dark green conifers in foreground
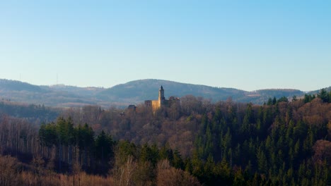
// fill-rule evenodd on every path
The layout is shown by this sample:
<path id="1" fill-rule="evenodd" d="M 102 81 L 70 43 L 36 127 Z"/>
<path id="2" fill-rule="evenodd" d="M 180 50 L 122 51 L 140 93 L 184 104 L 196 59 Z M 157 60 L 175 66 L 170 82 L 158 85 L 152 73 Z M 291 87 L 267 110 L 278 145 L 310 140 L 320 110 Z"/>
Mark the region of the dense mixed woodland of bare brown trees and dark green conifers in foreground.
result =
<path id="1" fill-rule="evenodd" d="M 0 185 L 330 185 L 331 92 L 0 116 Z"/>

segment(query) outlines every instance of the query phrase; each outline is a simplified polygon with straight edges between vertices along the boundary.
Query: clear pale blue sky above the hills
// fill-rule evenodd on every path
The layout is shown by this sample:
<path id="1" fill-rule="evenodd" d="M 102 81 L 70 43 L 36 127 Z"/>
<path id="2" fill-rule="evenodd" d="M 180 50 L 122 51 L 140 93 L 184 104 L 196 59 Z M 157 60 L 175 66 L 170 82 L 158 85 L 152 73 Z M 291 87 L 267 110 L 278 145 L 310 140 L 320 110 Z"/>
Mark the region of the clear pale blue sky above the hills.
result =
<path id="1" fill-rule="evenodd" d="M 331 1 L 1 1 L 0 78 L 331 85 Z"/>

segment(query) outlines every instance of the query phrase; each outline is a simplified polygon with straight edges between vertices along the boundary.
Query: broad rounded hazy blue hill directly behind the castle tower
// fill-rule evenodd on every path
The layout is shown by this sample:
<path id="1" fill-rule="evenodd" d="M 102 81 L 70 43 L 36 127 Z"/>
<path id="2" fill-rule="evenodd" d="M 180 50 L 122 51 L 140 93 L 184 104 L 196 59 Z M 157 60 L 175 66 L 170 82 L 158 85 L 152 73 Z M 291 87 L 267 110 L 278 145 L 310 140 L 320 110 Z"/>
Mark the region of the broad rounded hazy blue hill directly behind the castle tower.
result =
<path id="1" fill-rule="evenodd" d="M 125 84 L 116 85 L 100 92 L 98 95 L 112 101 L 141 102 L 146 99 L 158 99 L 158 89 L 163 85 L 165 97 L 183 97 L 194 95 L 213 101 L 225 100 L 228 97 L 239 98 L 245 95 L 245 91 L 232 88 L 208 87 L 205 85 L 192 85 L 167 80 L 135 80 Z"/>

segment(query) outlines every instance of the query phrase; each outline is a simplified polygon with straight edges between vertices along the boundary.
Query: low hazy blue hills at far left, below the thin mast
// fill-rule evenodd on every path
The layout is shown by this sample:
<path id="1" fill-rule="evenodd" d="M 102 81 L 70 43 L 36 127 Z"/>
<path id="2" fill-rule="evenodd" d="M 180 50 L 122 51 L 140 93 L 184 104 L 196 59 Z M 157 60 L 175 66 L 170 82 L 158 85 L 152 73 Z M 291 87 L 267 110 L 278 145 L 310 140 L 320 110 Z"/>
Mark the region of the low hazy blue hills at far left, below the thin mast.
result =
<path id="1" fill-rule="evenodd" d="M 103 100 L 95 99 L 95 94 L 101 90 L 103 89 L 66 85 L 37 86 L 14 80 L 0 80 L 1 100 L 45 106 L 71 107 L 103 103 Z"/>

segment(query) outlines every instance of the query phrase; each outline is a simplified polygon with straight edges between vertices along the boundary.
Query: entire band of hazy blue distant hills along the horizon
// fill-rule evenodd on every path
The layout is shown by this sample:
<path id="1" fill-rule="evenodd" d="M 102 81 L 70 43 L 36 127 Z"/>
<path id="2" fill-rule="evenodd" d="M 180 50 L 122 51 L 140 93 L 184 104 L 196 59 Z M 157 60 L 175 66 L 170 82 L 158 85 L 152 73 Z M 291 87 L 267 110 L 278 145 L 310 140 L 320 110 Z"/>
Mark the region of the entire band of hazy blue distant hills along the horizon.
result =
<path id="1" fill-rule="evenodd" d="M 0 99 L 45 106 L 83 106 L 97 104 L 125 107 L 141 104 L 146 99 L 157 99 L 158 89 L 163 85 L 165 97 L 193 95 L 211 101 L 223 101 L 231 97 L 233 101 L 263 104 L 269 97 L 300 97 L 305 92 L 298 89 L 261 89 L 248 92 L 234 88 L 192 85 L 168 80 L 134 80 L 108 89 L 100 87 L 74 87 L 67 85 L 37 86 L 15 80 L 0 80 Z M 316 90 L 315 92 L 318 92 Z"/>

